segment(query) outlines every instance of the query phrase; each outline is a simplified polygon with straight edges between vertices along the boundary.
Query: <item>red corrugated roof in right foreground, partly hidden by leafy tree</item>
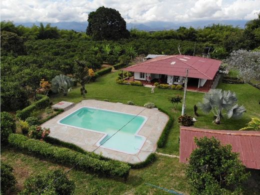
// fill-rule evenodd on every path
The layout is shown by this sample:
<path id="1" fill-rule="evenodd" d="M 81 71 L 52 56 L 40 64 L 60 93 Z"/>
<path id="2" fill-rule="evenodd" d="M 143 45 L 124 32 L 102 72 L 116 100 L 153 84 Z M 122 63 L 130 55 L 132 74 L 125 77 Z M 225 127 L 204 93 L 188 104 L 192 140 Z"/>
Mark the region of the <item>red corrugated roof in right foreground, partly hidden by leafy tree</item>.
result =
<path id="1" fill-rule="evenodd" d="M 196 137 L 212 137 L 221 144 L 231 144 L 233 152 L 239 152 L 239 158 L 247 168 L 260 169 L 260 132 L 239 130 L 210 130 L 194 127 L 180 127 L 179 161 L 187 163 Z"/>

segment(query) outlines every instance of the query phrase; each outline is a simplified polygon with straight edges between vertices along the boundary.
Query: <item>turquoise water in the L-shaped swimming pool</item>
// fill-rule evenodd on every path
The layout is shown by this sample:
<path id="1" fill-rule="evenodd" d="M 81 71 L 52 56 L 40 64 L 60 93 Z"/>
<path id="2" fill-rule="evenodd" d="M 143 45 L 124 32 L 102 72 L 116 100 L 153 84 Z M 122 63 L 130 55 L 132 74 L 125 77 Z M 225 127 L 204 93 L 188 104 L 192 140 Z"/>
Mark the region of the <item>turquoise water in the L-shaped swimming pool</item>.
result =
<path id="1" fill-rule="evenodd" d="M 137 153 L 145 138 L 143 136 L 135 135 L 135 133 L 141 128 L 145 122 L 145 118 L 143 116 L 134 116 L 135 115 L 127 113 L 81 107 L 59 120 L 59 123 L 79 127 L 84 130 L 107 133 L 107 135 L 98 143 L 103 143 L 102 147 L 125 153 Z M 111 137 L 111 135 L 120 128 L 122 129 Z"/>

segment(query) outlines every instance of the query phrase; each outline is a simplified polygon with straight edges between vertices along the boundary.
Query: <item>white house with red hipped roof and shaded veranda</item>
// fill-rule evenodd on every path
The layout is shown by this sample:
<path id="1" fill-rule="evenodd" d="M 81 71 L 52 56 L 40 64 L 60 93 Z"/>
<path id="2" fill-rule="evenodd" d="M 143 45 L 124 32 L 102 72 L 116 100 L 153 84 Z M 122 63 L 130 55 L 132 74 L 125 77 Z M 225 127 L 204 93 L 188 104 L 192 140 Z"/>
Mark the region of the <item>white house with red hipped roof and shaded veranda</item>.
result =
<path id="1" fill-rule="evenodd" d="M 208 91 L 217 77 L 220 64 L 220 60 L 199 56 L 161 55 L 122 70 L 134 72 L 133 80 L 146 82 L 150 78 L 151 83 L 182 85 L 188 69 L 188 89 Z"/>

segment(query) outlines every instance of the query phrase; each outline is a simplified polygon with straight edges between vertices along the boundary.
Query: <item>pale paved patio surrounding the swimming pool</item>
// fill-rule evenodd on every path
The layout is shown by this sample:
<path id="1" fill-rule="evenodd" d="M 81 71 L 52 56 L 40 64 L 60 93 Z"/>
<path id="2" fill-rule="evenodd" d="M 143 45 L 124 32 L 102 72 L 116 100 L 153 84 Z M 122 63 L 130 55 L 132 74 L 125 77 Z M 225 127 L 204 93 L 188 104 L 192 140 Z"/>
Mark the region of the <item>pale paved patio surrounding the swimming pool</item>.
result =
<path id="1" fill-rule="evenodd" d="M 104 133 L 70 127 L 58 123 L 61 118 L 67 116 L 68 114 L 83 106 L 107 109 L 117 112 L 125 112 L 135 115 L 141 112 L 140 115 L 146 116 L 146 122 L 137 133 L 138 135 L 142 135 L 145 137 L 145 141 L 139 152 L 137 152 L 136 154 L 128 154 L 104 147 L 97 148 L 97 142 L 104 135 Z M 160 112 L 157 108 L 143 109 L 144 107 L 141 106 L 127 105 L 122 103 L 113 103 L 94 99 L 83 100 L 77 103 L 72 108 L 44 122 L 41 126 L 50 128 L 49 136 L 58 138 L 62 141 L 74 143 L 79 147 L 85 149 L 86 151 L 93 151 L 97 148 L 95 150 L 95 153 L 97 154 L 101 153 L 105 157 L 130 163 L 136 163 L 145 160 L 152 151 L 156 150 L 156 142 L 168 121 L 168 116 L 163 112 Z"/>

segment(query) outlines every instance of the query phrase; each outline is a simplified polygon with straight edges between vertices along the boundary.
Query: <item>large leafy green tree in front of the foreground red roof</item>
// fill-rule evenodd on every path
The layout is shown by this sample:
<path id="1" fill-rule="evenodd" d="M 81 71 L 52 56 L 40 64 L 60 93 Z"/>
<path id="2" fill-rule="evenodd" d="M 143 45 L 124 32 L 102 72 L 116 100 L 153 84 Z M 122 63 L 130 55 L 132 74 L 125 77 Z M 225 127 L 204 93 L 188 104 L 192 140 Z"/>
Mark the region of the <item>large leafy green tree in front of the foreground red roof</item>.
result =
<path id="1" fill-rule="evenodd" d="M 194 141 L 198 148 L 191 152 L 186 169 L 190 194 L 242 194 L 249 174 L 231 145 L 220 145 L 214 137 Z"/>

